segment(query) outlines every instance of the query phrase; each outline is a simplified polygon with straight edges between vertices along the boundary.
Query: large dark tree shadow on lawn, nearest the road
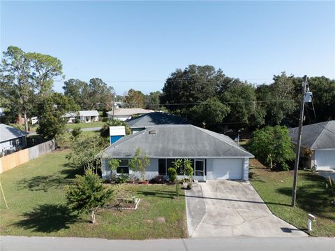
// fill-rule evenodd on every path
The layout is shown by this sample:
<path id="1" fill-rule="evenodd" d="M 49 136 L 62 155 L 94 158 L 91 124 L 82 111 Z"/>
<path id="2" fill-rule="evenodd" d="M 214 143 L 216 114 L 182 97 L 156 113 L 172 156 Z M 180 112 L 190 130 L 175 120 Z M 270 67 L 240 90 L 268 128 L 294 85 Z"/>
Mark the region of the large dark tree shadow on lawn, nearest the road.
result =
<path id="1" fill-rule="evenodd" d="M 61 204 L 39 205 L 31 212 L 24 213 L 22 216 L 24 220 L 20 220 L 13 225 L 42 233 L 52 233 L 61 229 L 68 229 L 70 224 L 78 220 L 77 215 L 71 213 L 65 205 Z"/>

